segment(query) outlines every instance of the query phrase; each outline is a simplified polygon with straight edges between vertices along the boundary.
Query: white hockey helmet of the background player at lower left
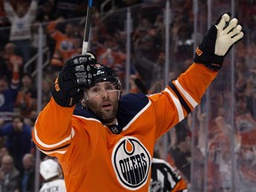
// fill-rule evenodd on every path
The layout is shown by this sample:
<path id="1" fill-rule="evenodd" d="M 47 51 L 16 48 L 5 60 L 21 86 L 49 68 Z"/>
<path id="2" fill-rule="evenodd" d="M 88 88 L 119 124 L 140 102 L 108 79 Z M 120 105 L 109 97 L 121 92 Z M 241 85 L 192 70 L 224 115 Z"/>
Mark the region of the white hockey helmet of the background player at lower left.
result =
<path id="1" fill-rule="evenodd" d="M 53 177 L 56 177 L 60 174 L 59 164 L 50 159 L 46 159 L 40 164 L 40 173 L 43 176 L 44 180 L 49 180 Z"/>

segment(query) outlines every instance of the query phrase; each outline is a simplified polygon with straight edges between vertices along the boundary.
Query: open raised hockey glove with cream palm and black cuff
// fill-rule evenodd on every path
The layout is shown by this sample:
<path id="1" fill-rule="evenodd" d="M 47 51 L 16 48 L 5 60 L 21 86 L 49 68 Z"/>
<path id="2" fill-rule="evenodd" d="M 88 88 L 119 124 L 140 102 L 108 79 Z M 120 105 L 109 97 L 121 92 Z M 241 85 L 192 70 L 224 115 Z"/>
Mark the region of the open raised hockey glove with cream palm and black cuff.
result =
<path id="1" fill-rule="evenodd" d="M 216 25 L 207 31 L 202 43 L 197 47 L 194 61 L 218 71 L 233 44 L 244 36 L 242 26 L 236 18 L 230 20 L 228 13 L 220 17 Z"/>

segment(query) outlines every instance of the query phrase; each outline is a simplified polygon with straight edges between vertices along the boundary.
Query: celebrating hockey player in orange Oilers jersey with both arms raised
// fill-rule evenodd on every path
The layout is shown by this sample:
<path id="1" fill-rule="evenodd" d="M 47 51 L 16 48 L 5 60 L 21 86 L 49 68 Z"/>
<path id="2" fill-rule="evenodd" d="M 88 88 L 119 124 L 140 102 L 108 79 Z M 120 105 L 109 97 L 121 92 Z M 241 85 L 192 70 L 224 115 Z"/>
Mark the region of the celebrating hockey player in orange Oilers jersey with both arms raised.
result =
<path id="1" fill-rule="evenodd" d="M 36 146 L 57 156 L 68 192 L 148 191 L 156 140 L 196 108 L 242 27 L 225 13 L 208 30 L 194 63 L 163 92 L 128 93 L 93 56 L 67 61 L 33 130 Z M 83 99 L 82 107 L 76 104 Z M 77 108 L 76 108 L 76 107 Z"/>

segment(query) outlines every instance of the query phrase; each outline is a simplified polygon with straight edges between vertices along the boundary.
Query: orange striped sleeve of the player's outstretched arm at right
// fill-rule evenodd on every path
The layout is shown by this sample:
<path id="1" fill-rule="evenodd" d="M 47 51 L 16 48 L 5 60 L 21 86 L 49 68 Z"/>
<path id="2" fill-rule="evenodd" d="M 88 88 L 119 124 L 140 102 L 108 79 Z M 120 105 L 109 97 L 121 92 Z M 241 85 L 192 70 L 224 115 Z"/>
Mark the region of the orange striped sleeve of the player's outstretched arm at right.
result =
<path id="1" fill-rule="evenodd" d="M 156 130 L 156 139 L 196 108 L 217 74 L 204 65 L 194 63 L 163 92 L 149 96 L 158 119 L 156 127 L 161 127 Z"/>

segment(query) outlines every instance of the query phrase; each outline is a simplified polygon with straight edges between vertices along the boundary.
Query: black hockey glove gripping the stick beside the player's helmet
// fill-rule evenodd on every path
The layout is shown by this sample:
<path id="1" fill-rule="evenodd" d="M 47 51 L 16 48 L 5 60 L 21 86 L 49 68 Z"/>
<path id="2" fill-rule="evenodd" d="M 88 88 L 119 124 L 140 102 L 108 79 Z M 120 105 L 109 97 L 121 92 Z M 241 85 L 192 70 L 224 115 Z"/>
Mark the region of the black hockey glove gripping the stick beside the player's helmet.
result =
<path id="1" fill-rule="evenodd" d="M 52 97 L 60 106 L 70 108 L 82 100 L 84 89 L 92 82 L 91 64 L 95 63 L 92 52 L 78 55 L 65 63 L 52 89 Z"/>

